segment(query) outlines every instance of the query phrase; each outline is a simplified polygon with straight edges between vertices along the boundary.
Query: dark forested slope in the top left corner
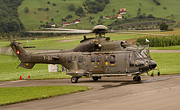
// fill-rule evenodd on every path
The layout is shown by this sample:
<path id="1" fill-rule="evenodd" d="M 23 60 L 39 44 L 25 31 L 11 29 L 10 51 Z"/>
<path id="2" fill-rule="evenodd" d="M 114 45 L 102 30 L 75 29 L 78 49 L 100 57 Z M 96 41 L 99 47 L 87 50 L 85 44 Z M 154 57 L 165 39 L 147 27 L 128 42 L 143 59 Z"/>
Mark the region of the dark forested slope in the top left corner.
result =
<path id="1" fill-rule="evenodd" d="M 18 34 L 24 30 L 23 23 L 19 19 L 18 6 L 23 0 L 0 0 L 0 33 L 11 35 Z M 0 37 L 1 37 L 0 36 Z"/>

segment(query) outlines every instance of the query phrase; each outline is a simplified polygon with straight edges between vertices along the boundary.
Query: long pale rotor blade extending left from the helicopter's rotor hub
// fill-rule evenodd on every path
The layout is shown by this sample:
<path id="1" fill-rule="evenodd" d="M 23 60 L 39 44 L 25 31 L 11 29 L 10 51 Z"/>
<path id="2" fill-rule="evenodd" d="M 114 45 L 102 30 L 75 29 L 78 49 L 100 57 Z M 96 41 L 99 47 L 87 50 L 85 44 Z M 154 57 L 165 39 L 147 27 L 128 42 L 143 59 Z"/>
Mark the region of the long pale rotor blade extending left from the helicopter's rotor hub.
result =
<path id="1" fill-rule="evenodd" d="M 91 33 L 91 30 L 73 30 L 73 31 L 25 31 L 26 33 Z"/>

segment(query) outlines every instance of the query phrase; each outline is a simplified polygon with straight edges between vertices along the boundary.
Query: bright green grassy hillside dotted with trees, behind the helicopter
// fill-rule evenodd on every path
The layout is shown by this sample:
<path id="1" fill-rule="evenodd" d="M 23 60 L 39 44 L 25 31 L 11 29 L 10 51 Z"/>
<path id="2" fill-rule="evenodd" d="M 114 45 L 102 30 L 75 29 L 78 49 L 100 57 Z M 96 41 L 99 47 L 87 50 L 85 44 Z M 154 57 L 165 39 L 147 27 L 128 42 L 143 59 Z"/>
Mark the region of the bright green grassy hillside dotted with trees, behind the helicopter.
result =
<path id="1" fill-rule="evenodd" d="M 180 20 L 179 0 L 158 0 L 161 5 L 156 5 L 153 0 L 110 0 L 110 3 L 105 6 L 105 9 L 97 14 L 87 14 L 87 11 L 84 9 L 86 17 L 82 18 L 75 15 L 75 11 L 69 11 L 68 6 L 71 3 L 73 3 L 77 9 L 78 6 L 83 7 L 83 2 L 85 1 L 86 0 L 50 0 L 50 4 L 48 4 L 48 0 L 24 0 L 22 5 L 18 7 L 18 13 L 26 29 L 30 30 L 38 29 L 40 25 L 46 24 L 46 22 L 54 22 L 58 26 L 62 26 L 62 22 L 64 22 L 62 19 L 65 19 L 69 14 L 72 15 L 72 18 L 66 19 L 66 22 L 72 22 L 74 18 L 80 19 L 82 22 L 76 26 L 69 26 L 69 28 L 90 29 L 98 23 L 98 18 L 100 18 L 101 15 L 116 16 L 120 8 L 126 8 L 127 14 L 123 15 L 123 17 L 127 17 L 127 19 L 136 17 L 138 9 L 140 8 L 141 13 L 146 13 L 146 16 L 152 14 L 154 17 L 167 19 L 167 16 L 173 15 L 176 22 Z M 53 3 L 55 3 L 56 6 L 53 6 Z M 28 13 L 24 12 L 25 7 L 28 7 Z M 164 7 L 166 9 L 164 9 Z M 39 11 L 39 8 L 45 11 Z M 47 8 L 48 11 L 46 10 Z M 113 9 L 115 9 L 114 12 Z M 94 17 L 91 21 L 89 21 L 90 16 Z M 115 20 L 117 19 L 102 19 L 102 22 L 103 25 L 107 26 Z"/>

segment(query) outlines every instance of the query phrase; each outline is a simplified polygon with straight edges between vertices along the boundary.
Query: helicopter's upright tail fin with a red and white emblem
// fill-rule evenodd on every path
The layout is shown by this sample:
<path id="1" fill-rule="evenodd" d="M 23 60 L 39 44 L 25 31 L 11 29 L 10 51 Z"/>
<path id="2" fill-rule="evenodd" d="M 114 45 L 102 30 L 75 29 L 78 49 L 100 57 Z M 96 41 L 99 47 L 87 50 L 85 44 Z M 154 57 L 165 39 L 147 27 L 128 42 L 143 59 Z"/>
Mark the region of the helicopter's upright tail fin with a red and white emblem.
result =
<path id="1" fill-rule="evenodd" d="M 17 42 L 16 40 L 14 40 L 13 42 L 11 42 L 10 46 L 12 48 L 12 50 L 14 51 L 14 53 L 17 55 L 17 57 L 19 58 L 19 60 L 21 61 L 21 64 L 19 65 L 20 67 L 23 68 L 27 68 L 27 69 L 31 69 L 35 63 L 29 63 L 28 61 L 30 60 L 30 55 L 29 53 L 19 44 L 21 44 L 20 42 Z"/>

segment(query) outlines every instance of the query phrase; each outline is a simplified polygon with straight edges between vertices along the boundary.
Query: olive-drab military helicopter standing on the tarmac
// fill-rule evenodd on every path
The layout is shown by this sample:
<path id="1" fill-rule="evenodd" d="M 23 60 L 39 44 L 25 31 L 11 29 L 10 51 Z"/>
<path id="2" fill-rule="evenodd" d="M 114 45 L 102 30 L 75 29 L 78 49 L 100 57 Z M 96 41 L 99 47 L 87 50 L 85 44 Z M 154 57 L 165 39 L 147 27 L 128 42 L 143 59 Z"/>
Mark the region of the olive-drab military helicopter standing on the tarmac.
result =
<path id="1" fill-rule="evenodd" d="M 96 38 L 86 38 L 74 49 L 57 52 L 28 53 L 20 42 L 14 40 L 10 46 L 20 59 L 20 67 L 31 69 L 36 63 L 61 64 L 68 69 L 71 82 L 77 83 L 82 76 L 94 81 L 104 76 L 132 76 L 133 81 L 141 81 L 140 74 L 148 73 L 157 66 L 147 52 L 126 41 L 110 41 L 105 37 L 108 28 L 97 25 L 93 30 L 59 29 L 61 31 L 28 31 L 28 33 L 90 33 Z M 160 73 L 158 72 L 158 75 Z"/>

